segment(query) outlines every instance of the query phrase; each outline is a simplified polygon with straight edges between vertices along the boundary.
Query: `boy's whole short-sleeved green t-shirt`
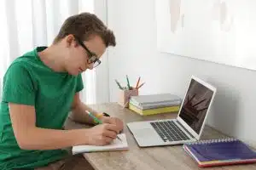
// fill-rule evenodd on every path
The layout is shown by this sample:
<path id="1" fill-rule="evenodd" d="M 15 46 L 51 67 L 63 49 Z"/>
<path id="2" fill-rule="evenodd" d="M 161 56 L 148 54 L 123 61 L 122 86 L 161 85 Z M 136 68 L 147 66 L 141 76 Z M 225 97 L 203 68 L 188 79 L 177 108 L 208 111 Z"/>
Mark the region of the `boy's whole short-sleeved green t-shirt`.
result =
<path id="1" fill-rule="evenodd" d="M 42 167 L 67 156 L 64 150 L 21 150 L 15 139 L 8 103 L 33 105 L 36 126 L 63 129 L 73 96 L 84 88 L 82 77 L 55 72 L 38 57 L 46 47 L 15 59 L 3 78 L 0 105 L 0 169 Z"/>

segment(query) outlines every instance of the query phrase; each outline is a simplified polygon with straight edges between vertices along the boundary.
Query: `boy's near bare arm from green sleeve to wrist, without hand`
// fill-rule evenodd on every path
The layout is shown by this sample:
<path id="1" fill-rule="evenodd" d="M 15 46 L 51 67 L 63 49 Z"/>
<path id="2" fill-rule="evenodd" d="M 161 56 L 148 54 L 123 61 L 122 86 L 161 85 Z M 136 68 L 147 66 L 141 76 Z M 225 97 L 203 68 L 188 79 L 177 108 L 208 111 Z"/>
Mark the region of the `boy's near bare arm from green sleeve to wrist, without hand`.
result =
<path id="1" fill-rule="evenodd" d="M 53 130 L 36 127 L 35 108 L 32 105 L 9 103 L 9 113 L 15 138 L 24 150 L 54 150 L 85 142 L 87 129 Z M 84 135 L 81 135 L 84 134 Z"/>

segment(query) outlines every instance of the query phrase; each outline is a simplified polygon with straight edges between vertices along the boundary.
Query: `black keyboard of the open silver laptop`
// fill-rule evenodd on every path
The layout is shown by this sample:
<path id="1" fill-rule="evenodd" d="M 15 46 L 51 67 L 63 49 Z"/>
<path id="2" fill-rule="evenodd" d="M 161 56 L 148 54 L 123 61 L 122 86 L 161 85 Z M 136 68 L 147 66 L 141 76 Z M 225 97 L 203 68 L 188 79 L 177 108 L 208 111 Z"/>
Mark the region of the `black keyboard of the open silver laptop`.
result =
<path id="1" fill-rule="evenodd" d="M 188 140 L 189 137 L 173 121 L 150 122 L 160 138 L 166 141 Z"/>

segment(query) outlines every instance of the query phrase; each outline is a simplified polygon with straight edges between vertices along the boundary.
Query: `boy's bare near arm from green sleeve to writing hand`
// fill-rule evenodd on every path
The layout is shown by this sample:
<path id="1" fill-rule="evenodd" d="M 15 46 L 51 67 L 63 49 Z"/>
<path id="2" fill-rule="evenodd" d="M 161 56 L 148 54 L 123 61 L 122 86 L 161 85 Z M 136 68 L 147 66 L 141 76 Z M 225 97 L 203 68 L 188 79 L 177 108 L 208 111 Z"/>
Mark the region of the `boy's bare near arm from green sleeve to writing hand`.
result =
<path id="1" fill-rule="evenodd" d="M 9 103 L 15 139 L 23 150 L 57 150 L 73 145 L 109 144 L 119 129 L 102 124 L 88 129 L 55 130 L 36 127 L 34 106 Z"/>

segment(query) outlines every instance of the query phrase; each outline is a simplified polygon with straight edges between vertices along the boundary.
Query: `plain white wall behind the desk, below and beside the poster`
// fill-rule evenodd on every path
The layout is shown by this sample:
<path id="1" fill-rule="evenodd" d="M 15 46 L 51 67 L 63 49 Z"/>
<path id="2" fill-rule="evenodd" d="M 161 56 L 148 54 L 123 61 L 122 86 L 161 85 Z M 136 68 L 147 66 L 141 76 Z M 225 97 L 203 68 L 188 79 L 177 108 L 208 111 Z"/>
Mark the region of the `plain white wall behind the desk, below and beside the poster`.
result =
<path id="1" fill-rule="evenodd" d="M 256 146 L 256 72 L 162 54 L 156 49 L 154 0 L 108 1 L 108 26 L 117 46 L 108 51 L 110 100 L 117 101 L 114 79 L 146 82 L 140 94 L 172 93 L 183 97 L 191 75 L 218 88 L 208 124 Z M 200 47 L 198 47 L 200 48 Z"/>

